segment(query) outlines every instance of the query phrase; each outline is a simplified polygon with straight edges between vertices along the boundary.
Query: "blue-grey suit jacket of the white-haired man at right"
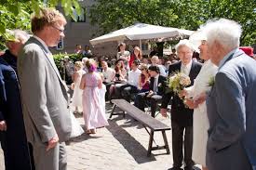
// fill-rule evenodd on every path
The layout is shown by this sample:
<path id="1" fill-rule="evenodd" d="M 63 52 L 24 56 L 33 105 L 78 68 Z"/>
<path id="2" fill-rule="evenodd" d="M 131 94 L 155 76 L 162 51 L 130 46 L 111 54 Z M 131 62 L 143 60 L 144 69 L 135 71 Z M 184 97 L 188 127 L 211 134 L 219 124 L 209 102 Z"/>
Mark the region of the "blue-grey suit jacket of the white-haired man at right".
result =
<path id="1" fill-rule="evenodd" d="M 209 170 L 256 165 L 256 61 L 238 50 L 219 68 L 209 97 Z"/>

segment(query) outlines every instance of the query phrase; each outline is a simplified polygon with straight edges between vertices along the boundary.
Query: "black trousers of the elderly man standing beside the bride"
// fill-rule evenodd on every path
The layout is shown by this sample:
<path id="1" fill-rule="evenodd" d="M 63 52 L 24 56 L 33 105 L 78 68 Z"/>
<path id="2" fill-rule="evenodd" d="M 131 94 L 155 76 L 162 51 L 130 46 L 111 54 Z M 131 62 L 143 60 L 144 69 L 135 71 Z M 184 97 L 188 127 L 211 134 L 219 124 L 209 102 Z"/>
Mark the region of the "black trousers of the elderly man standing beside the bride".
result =
<path id="1" fill-rule="evenodd" d="M 193 149 L 193 126 L 183 126 L 171 121 L 172 128 L 172 155 L 173 167 L 180 168 L 184 159 L 186 167 L 192 167 L 195 163 L 192 160 Z M 184 135 L 183 135 L 184 134 Z M 184 137 L 184 157 L 183 157 Z"/>

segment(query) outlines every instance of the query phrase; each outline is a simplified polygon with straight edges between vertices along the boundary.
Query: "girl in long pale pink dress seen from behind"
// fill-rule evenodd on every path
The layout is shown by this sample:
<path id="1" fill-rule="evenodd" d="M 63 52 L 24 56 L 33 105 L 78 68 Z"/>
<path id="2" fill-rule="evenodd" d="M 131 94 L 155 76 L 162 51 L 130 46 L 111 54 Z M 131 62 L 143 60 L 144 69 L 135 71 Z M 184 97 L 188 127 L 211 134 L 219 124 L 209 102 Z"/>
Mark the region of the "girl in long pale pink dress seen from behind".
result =
<path id="1" fill-rule="evenodd" d="M 97 66 L 93 59 L 86 62 L 88 73 L 84 74 L 80 88 L 83 89 L 83 114 L 88 134 L 95 134 L 96 128 L 108 125 L 101 110 L 100 88 L 102 87 L 101 75 L 96 72 Z"/>

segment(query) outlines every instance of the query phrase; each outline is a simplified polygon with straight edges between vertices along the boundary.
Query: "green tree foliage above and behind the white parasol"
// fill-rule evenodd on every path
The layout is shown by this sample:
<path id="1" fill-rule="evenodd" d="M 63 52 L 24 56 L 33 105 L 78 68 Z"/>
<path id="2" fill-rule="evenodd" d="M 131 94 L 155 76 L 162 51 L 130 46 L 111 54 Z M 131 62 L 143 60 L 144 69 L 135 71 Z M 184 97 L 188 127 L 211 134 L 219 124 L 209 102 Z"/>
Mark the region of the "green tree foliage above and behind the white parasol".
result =
<path id="1" fill-rule="evenodd" d="M 241 45 L 255 43 L 256 0 L 98 0 L 90 9 L 101 34 L 135 22 L 197 30 L 213 18 L 236 20 L 243 27 Z"/>

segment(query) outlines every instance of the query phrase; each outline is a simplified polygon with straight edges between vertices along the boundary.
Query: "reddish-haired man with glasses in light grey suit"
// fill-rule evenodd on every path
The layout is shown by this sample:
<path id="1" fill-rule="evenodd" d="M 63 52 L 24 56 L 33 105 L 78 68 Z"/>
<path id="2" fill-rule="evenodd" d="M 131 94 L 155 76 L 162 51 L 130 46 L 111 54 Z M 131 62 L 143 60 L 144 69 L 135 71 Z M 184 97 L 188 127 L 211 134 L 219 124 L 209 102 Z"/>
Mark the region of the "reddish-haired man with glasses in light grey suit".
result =
<path id="1" fill-rule="evenodd" d="M 26 135 L 36 170 L 65 170 L 64 141 L 71 134 L 68 96 L 48 46 L 57 46 L 64 37 L 66 20 L 58 10 L 42 8 L 31 22 L 34 35 L 18 58 Z"/>

